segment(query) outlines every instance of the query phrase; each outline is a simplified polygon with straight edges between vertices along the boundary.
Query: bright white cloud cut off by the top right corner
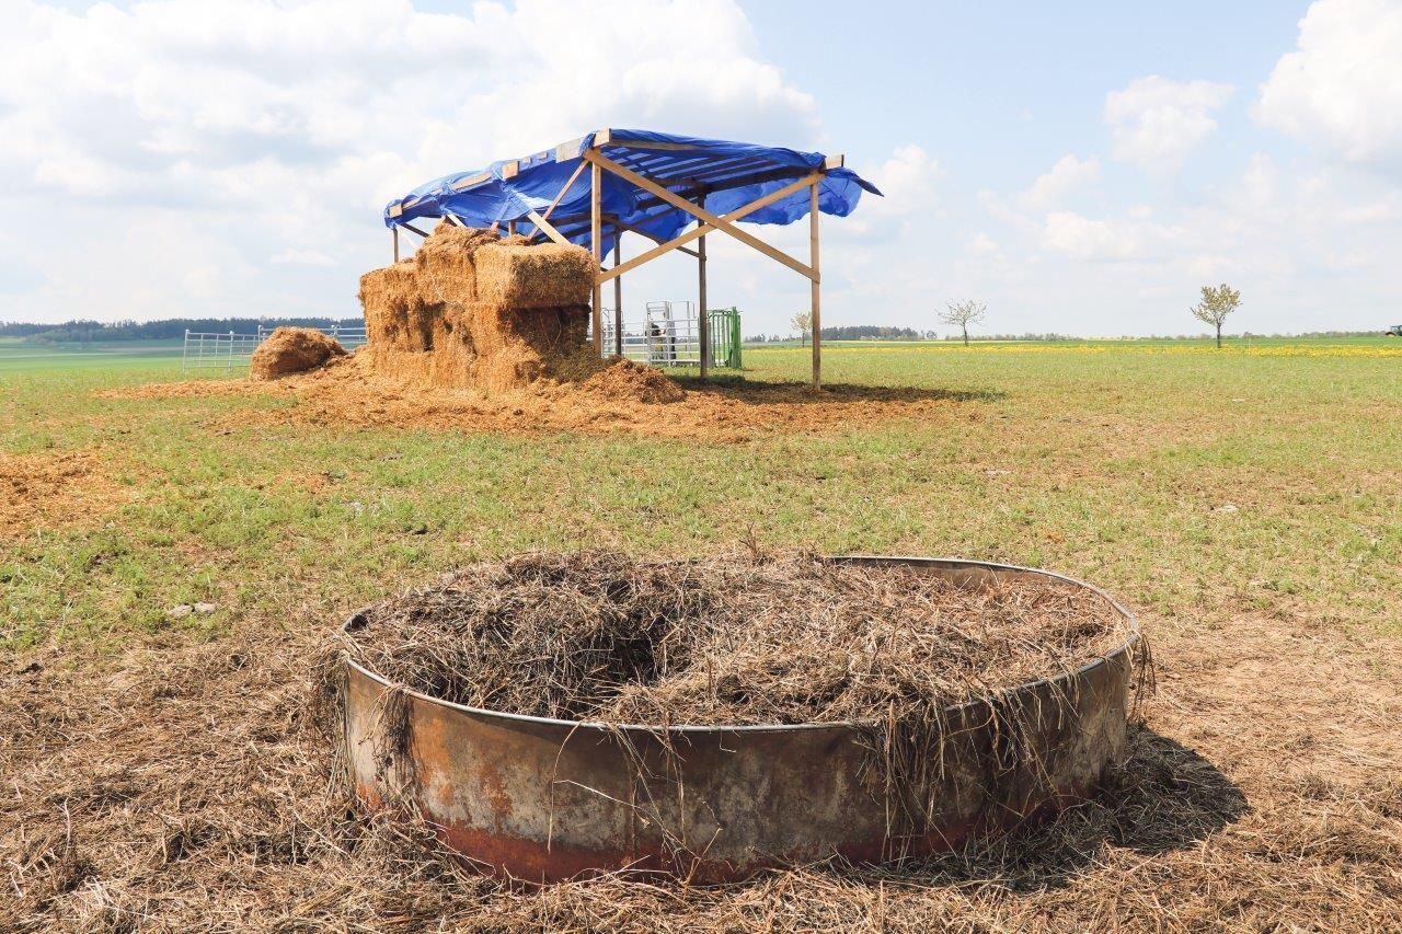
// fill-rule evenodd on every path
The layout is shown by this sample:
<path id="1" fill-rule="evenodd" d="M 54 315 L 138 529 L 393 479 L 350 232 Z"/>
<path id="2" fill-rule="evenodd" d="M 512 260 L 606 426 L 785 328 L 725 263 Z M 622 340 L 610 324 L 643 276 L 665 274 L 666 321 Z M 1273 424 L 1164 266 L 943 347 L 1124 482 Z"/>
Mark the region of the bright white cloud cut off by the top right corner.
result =
<path id="1" fill-rule="evenodd" d="M 1253 115 L 1346 160 L 1402 171 L 1402 3 L 1312 4 Z"/>

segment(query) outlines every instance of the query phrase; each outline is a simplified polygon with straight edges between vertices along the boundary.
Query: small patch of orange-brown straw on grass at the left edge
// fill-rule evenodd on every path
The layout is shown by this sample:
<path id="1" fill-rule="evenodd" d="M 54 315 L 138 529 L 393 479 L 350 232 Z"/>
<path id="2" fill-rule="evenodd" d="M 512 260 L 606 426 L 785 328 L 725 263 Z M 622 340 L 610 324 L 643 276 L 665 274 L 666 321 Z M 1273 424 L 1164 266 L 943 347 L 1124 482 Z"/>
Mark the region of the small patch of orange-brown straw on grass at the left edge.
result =
<path id="1" fill-rule="evenodd" d="M 0 539 L 84 524 L 126 498 L 91 452 L 0 453 Z"/>

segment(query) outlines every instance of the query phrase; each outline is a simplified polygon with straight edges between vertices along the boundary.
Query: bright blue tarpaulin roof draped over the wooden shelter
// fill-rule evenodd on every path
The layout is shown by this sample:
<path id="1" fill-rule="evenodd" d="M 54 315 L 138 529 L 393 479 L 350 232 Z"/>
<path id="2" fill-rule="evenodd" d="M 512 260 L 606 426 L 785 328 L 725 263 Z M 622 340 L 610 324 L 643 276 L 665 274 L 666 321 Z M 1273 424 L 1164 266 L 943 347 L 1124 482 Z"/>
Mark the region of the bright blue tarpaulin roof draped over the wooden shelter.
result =
<path id="1" fill-rule="evenodd" d="M 822 153 L 613 129 L 524 158 L 492 163 L 479 171 L 435 178 L 391 201 L 384 209 L 384 226 L 446 215 L 470 227 L 509 222 L 530 224 L 527 215 L 533 210 L 545 213 L 579 168 L 583 153 L 596 143 L 600 153 L 614 163 L 716 215 L 735 210 L 824 167 L 817 199 L 824 215 L 845 217 L 852 213 L 864 189 L 880 195 L 875 185 L 850 168 L 833 165 Z M 589 185 L 590 172 L 579 172 L 550 215 L 551 226 L 572 243 L 583 245 L 589 245 L 590 233 Z M 601 194 L 603 255 L 613 250 L 620 229 L 660 243 L 695 222 L 693 215 L 611 172 L 603 174 Z M 808 216 L 808 212 L 809 191 L 803 188 L 744 216 L 740 223 L 789 224 Z"/>

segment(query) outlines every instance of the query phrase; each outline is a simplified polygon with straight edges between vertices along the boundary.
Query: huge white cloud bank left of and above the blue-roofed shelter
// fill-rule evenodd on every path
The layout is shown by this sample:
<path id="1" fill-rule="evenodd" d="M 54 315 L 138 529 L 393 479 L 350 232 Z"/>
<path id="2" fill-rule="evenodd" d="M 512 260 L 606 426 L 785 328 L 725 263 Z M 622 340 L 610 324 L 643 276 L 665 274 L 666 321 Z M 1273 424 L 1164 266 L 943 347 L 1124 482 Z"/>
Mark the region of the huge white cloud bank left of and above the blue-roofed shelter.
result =
<path id="1" fill-rule="evenodd" d="M 234 257 L 247 275 L 226 276 L 223 297 L 262 314 L 306 307 L 310 269 L 339 283 L 313 302 L 356 314 L 356 276 L 388 258 L 381 208 L 450 171 L 601 126 L 819 140 L 812 97 L 760 55 L 733 0 L 0 10 L 0 210 L 101 223 L 108 243 L 132 244 L 128 259 L 227 269 Z M 0 231 L 0 252 L 66 282 L 4 292 L 0 318 L 170 313 L 151 289 L 102 289 L 107 265 L 66 238 Z M 210 292 L 209 275 L 191 282 Z M 94 307 L 69 304 L 100 292 Z"/>

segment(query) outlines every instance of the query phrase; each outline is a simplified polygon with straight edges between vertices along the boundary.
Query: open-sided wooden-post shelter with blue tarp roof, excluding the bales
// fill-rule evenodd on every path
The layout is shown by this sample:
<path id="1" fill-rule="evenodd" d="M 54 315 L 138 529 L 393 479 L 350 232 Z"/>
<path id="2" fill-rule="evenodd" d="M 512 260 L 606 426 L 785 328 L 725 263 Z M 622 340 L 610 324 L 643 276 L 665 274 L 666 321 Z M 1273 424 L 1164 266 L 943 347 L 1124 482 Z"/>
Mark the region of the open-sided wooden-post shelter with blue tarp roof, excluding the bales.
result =
<path id="1" fill-rule="evenodd" d="M 414 224 L 442 217 L 502 236 L 524 234 L 587 248 L 597 273 L 593 286 L 594 349 L 603 353 L 603 287 L 614 283 L 613 328 L 621 353 L 622 273 L 680 250 L 697 258 L 700 285 L 701 374 L 707 334 L 705 238 L 723 233 L 809 279 L 813 327 L 813 386 L 822 384 L 819 215 L 845 217 L 862 191 L 876 188 L 843 164 L 841 156 L 801 153 L 649 130 L 603 129 L 481 171 L 457 172 L 419 185 L 384 209 L 384 223 L 400 258 L 400 230 L 426 236 Z M 809 219 L 809 258 L 803 262 L 737 224 L 791 224 Z M 624 231 L 655 245 L 622 259 Z M 694 247 L 688 245 L 695 243 Z M 613 265 L 604 266 L 604 258 Z"/>

